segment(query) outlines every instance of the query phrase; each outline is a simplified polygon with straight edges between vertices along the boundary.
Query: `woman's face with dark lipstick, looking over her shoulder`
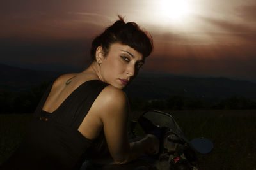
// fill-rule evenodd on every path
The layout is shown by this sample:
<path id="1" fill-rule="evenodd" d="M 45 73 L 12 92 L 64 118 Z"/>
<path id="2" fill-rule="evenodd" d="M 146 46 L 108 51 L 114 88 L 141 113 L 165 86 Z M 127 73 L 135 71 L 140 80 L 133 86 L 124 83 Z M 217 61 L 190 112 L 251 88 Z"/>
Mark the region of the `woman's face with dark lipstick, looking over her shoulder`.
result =
<path id="1" fill-rule="evenodd" d="M 108 55 L 102 57 L 100 62 L 100 80 L 123 89 L 136 77 L 144 60 L 143 55 L 130 46 L 113 43 Z"/>

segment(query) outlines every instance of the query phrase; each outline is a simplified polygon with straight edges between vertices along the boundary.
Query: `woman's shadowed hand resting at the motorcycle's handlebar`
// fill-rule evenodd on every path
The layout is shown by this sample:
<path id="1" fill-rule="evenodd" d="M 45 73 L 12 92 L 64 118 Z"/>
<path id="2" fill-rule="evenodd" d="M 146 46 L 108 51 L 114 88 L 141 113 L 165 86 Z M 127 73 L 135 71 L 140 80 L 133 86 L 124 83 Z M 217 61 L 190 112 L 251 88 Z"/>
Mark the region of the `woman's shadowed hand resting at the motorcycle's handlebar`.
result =
<path id="1" fill-rule="evenodd" d="M 148 148 L 146 150 L 147 155 L 155 155 L 159 152 L 159 139 L 153 134 L 147 134 Z"/>

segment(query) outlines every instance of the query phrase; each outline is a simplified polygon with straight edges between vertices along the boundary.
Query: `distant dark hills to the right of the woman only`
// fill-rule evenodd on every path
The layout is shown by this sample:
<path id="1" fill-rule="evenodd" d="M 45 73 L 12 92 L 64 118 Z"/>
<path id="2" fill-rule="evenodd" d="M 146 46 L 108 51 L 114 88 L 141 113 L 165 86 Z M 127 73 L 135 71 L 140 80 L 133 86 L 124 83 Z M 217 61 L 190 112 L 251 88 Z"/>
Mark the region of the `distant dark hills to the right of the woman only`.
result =
<path id="1" fill-rule="evenodd" d="M 256 83 L 231 80 L 229 78 L 195 78 L 159 74 L 157 77 L 145 74 L 125 89 L 128 96 L 163 99 L 168 96 L 199 97 L 202 99 L 223 99 L 241 95 L 256 99 Z"/>

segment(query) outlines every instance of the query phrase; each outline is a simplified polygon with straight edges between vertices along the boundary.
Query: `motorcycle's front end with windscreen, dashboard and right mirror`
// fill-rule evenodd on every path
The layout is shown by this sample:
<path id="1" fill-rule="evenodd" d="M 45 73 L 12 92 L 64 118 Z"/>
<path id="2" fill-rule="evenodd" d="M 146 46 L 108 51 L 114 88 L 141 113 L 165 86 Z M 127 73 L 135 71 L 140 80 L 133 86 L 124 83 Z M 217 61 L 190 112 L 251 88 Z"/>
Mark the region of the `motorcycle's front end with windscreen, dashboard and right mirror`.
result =
<path id="1" fill-rule="evenodd" d="M 154 162 L 157 169 L 198 169 L 196 152 L 206 154 L 213 148 L 212 141 L 206 138 L 195 138 L 189 142 L 169 113 L 147 111 L 138 122 L 146 133 L 160 136 L 158 160 Z"/>

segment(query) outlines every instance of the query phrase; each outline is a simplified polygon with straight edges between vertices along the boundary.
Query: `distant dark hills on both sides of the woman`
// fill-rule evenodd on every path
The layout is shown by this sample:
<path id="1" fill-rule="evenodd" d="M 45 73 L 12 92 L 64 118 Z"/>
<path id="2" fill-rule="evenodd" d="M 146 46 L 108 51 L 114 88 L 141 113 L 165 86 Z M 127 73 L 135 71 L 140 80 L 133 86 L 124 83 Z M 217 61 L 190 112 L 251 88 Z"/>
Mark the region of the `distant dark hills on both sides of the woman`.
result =
<path id="1" fill-rule="evenodd" d="M 33 71 L 0 64 L 0 90 L 25 91 L 62 73 Z M 223 99 L 236 94 L 256 99 L 256 83 L 229 78 L 195 78 L 154 73 L 141 74 L 126 89 L 129 97 L 163 99 L 168 96 Z"/>

